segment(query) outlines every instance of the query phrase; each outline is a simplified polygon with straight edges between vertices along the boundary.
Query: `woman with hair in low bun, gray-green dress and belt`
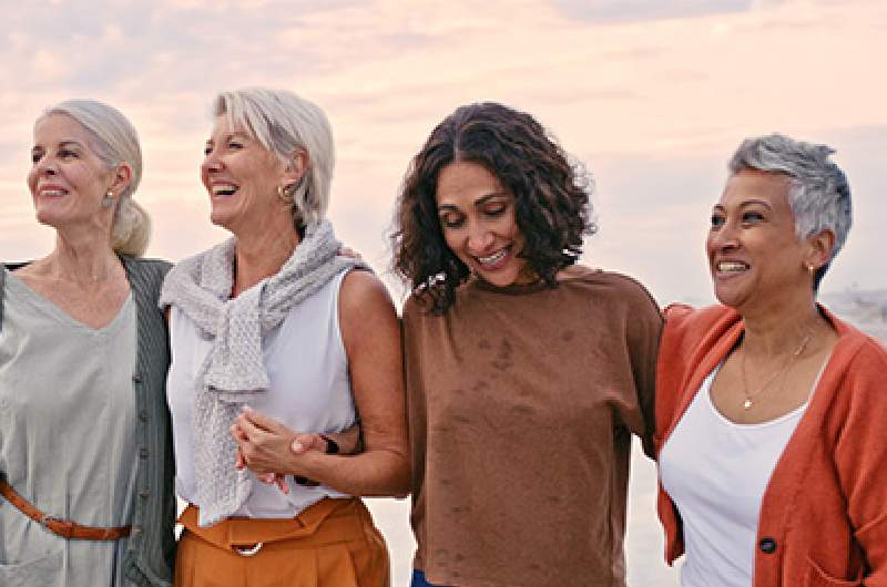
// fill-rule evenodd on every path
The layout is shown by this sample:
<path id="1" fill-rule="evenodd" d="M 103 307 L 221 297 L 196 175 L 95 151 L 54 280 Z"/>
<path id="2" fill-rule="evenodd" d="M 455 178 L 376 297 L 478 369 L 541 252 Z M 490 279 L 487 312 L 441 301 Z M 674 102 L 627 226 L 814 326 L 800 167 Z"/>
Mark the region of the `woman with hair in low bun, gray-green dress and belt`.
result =
<path id="1" fill-rule="evenodd" d="M 0 585 L 169 586 L 169 264 L 141 258 L 139 138 L 71 100 L 37 120 L 31 159 L 55 246 L 0 270 Z"/>

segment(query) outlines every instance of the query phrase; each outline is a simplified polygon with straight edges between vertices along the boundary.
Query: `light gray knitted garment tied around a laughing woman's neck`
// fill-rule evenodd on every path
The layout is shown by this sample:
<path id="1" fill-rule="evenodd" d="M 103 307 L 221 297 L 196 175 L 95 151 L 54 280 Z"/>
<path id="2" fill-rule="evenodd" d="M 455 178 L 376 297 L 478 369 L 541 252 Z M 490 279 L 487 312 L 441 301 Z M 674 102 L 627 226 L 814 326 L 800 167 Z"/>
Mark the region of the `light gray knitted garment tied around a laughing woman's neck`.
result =
<path id="1" fill-rule="evenodd" d="M 289 310 L 341 271 L 366 267 L 338 255 L 328 220 L 308 227 L 281 270 L 231 299 L 234 237 L 177 264 L 166 275 L 160 306 L 175 306 L 213 341 L 195 380 L 192 425 L 201 526 L 234 514 L 249 496 L 247 472 L 234 468 L 230 428 L 244 404 L 268 389 L 262 339 Z"/>

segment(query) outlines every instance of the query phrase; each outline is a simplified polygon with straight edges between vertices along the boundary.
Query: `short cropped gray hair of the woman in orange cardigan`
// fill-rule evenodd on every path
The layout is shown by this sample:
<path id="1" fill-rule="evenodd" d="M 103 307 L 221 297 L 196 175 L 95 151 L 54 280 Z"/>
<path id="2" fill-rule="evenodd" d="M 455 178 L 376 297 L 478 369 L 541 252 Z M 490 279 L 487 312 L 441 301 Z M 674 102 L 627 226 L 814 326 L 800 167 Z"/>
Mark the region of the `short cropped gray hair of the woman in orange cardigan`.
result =
<path id="1" fill-rule="evenodd" d="M 798 239 L 820 230 L 835 235 L 832 256 L 816 272 L 818 288 L 832 259 L 844 247 L 853 224 L 850 186 L 840 167 L 829 159 L 835 152 L 827 145 L 795 141 L 781 134 L 746 138 L 730 161 L 731 175 L 743 169 L 781 173 L 788 176 L 788 203 L 795 216 Z"/>

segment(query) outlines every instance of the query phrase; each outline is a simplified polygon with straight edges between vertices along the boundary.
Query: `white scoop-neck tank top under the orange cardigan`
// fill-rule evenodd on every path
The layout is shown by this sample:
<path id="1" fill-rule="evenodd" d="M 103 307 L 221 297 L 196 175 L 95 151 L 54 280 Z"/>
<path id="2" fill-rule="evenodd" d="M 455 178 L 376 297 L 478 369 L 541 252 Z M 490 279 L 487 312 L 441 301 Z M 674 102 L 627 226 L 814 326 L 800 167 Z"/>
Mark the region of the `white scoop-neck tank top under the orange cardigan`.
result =
<path id="1" fill-rule="evenodd" d="M 732 422 L 712 403 L 718 369 L 702 383 L 660 453 L 662 486 L 683 522 L 683 587 L 751 587 L 761 501 L 807 409 L 805 402 L 761 424 Z"/>

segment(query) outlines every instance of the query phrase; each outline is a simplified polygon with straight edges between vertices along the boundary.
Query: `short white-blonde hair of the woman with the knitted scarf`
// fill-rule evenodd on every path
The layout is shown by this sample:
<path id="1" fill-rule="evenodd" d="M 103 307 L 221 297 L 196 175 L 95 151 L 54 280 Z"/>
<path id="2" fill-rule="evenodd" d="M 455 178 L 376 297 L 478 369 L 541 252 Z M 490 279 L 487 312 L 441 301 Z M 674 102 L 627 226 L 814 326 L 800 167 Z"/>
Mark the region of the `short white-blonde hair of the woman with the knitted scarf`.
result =
<path id="1" fill-rule="evenodd" d="M 319 106 L 293 92 L 245 87 L 221 92 L 213 102 L 215 116 L 226 115 L 231 126 L 247 130 L 284 162 L 305 150 L 308 166 L 299 183 L 283 186 L 293 198 L 293 222 L 297 228 L 317 224 L 329 205 L 329 185 L 336 152 L 329 121 Z"/>

